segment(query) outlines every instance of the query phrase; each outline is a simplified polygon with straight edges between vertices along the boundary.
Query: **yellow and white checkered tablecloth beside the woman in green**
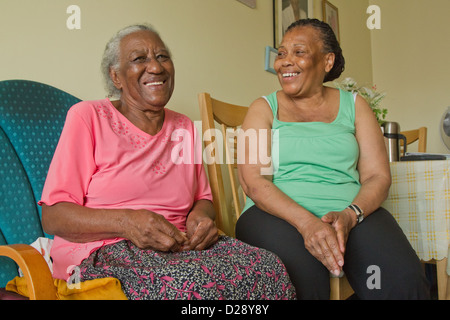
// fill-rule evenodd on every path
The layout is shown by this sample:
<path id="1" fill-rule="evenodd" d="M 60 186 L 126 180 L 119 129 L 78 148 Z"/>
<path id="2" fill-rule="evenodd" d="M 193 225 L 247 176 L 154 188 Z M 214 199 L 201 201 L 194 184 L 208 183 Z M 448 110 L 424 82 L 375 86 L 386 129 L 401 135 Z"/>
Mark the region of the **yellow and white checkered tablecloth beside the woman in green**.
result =
<path id="1" fill-rule="evenodd" d="M 382 206 L 398 221 L 420 259 L 448 257 L 450 160 L 391 162 L 390 166 L 392 185 Z"/>

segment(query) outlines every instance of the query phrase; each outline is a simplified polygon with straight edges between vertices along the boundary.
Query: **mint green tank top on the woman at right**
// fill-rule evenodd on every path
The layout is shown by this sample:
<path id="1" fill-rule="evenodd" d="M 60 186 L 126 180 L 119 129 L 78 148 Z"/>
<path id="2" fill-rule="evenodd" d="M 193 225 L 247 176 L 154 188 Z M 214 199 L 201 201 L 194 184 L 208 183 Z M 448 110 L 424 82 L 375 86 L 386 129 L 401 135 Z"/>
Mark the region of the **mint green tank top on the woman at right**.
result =
<path id="1" fill-rule="evenodd" d="M 340 90 L 339 112 L 332 123 L 280 121 L 277 93 L 264 98 L 274 119 L 273 183 L 317 217 L 345 209 L 361 187 L 353 94 Z M 253 205 L 247 197 L 242 212 Z"/>

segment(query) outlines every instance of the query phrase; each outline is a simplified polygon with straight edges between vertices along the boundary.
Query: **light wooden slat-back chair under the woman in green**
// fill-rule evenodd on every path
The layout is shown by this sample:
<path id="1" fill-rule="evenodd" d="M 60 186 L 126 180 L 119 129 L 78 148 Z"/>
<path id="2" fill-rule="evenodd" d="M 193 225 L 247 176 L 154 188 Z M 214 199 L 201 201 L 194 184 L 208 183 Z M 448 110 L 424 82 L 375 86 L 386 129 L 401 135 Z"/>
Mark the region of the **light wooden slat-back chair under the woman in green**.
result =
<path id="1" fill-rule="evenodd" d="M 236 177 L 236 168 L 237 168 L 237 139 L 236 135 L 232 134 L 237 128 L 239 128 L 247 114 L 247 107 L 230 104 L 227 102 L 219 101 L 213 99 L 208 93 L 200 93 L 199 96 L 199 106 L 200 113 L 202 117 L 202 131 L 203 137 L 205 141 L 205 149 L 210 147 L 210 150 L 214 150 L 214 154 L 212 157 L 215 157 L 215 160 L 212 161 L 210 159 L 207 163 L 208 175 L 211 184 L 211 192 L 213 194 L 214 199 L 214 208 L 217 213 L 217 225 L 221 230 L 229 230 L 231 225 L 232 230 L 225 232 L 230 236 L 234 236 L 234 225 L 239 215 L 241 213 L 241 201 L 240 201 L 240 193 L 239 190 L 239 180 Z M 221 126 L 221 136 L 219 134 L 215 135 L 214 140 L 212 139 L 211 133 L 216 131 L 215 121 Z M 227 130 L 228 137 L 231 139 L 227 139 Z M 231 134 L 230 134 L 231 132 Z M 217 139 L 222 138 L 223 141 L 218 141 Z M 211 139 L 211 140 L 210 140 Z M 230 143 L 230 140 L 232 142 Z M 226 167 L 228 170 L 228 175 L 230 177 L 231 184 L 231 193 L 232 200 L 234 206 L 234 215 L 230 212 L 230 206 L 226 201 L 226 188 L 224 186 L 224 179 L 222 176 L 222 168 L 221 168 L 221 158 L 218 152 L 222 152 L 223 150 L 219 150 L 221 143 L 225 146 L 225 154 L 227 156 Z M 211 144 L 214 144 L 214 148 L 211 148 Z M 233 150 L 233 151 L 232 151 Z M 234 159 L 234 161 L 230 161 Z M 230 163 L 232 162 L 232 163 Z M 242 191 L 243 194 L 243 191 Z M 245 194 L 244 201 L 245 201 Z M 225 225 L 228 222 L 229 226 Z M 330 299 L 331 300 L 344 300 L 350 297 L 353 294 L 353 289 L 347 281 L 347 278 L 344 276 L 338 277 L 330 277 Z"/>

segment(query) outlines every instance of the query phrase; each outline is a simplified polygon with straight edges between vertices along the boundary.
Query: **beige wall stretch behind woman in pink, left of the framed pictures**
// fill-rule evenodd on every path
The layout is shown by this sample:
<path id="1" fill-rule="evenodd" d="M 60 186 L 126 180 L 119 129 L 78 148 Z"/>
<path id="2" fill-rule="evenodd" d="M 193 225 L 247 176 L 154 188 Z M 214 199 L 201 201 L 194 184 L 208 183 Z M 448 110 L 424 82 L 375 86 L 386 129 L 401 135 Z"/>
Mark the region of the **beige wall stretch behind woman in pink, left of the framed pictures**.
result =
<path id="1" fill-rule="evenodd" d="M 69 5 L 81 29 L 69 30 Z M 197 93 L 249 104 L 278 88 L 264 70 L 272 45 L 272 4 L 250 9 L 234 0 L 0 0 L 0 80 L 41 81 L 81 99 L 105 96 L 99 72 L 107 40 L 120 28 L 151 23 L 176 68 L 169 107 L 200 120 Z"/>

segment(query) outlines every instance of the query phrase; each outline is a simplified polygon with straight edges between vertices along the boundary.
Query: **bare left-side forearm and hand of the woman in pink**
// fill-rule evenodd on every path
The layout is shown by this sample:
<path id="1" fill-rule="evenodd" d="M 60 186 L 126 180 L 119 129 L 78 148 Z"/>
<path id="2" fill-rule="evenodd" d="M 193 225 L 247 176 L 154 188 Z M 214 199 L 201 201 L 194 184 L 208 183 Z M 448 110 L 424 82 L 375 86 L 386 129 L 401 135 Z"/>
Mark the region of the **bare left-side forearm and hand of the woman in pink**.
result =
<path id="1" fill-rule="evenodd" d="M 142 249 L 179 251 L 186 237 L 163 216 L 148 210 L 91 209 L 60 202 L 42 206 L 48 234 L 71 242 L 126 238 Z"/>

